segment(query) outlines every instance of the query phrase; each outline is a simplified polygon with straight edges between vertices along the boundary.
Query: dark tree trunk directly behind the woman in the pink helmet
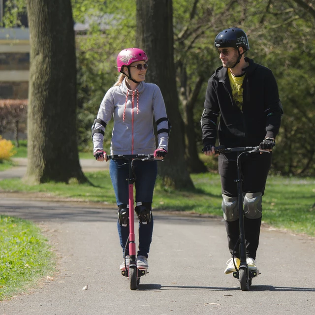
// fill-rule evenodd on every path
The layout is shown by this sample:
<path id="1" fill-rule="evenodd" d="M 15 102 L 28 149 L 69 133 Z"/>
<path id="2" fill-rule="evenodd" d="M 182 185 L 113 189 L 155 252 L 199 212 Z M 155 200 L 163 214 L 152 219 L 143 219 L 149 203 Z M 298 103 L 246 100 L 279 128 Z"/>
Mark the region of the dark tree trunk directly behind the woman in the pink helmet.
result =
<path id="1" fill-rule="evenodd" d="M 193 188 L 185 161 L 184 123 L 175 81 L 171 0 L 137 0 L 136 45 L 148 55 L 147 81 L 161 89 L 172 124 L 168 155 L 159 165 L 159 175 L 166 186 Z"/>

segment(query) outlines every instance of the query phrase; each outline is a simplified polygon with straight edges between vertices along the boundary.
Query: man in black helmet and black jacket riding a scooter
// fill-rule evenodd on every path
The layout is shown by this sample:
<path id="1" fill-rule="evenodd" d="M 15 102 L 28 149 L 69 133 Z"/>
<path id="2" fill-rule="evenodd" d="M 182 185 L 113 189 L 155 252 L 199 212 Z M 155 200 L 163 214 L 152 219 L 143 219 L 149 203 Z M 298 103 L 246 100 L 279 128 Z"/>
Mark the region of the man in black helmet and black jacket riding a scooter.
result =
<path id="1" fill-rule="evenodd" d="M 244 227 L 247 264 L 258 271 L 256 251 L 262 216 L 262 195 L 271 165 L 272 148 L 276 144 L 283 114 L 278 86 L 272 71 L 244 56 L 250 49 L 246 33 L 239 28 L 220 32 L 215 39 L 222 66 L 208 81 L 204 111 L 201 117 L 203 152 L 215 154 L 217 121 L 219 144 L 226 148 L 258 146 L 269 151 L 242 156 Z M 244 157 L 244 158 L 243 158 Z M 219 156 L 222 187 L 222 210 L 228 247 L 237 266 L 239 259 L 239 209 L 237 203 L 236 154 Z M 233 258 L 227 261 L 225 274 L 235 271 Z"/>

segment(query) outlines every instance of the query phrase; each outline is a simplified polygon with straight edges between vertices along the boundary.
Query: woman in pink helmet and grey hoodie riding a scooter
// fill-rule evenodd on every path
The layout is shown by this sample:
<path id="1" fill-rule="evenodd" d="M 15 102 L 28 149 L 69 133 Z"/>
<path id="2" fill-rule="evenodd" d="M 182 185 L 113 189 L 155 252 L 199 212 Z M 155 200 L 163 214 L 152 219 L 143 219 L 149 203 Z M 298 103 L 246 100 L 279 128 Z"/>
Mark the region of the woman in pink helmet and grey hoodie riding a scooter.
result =
<path id="1" fill-rule="evenodd" d="M 103 138 L 106 125 L 114 117 L 111 139 L 111 155 L 154 154 L 163 159 L 167 154 L 170 131 L 163 96 L 157 85 L 145 83 L 148 57 L 139 48 L 127 48 L 117 56 L 117 67 L 121 73 L 118 81 L 104 96 L 92 127 L 94 156 L 106 161 Z M 157 123 L 158 148 L 154 135 L 153 118 Z M 152 200 L 157 178 L 157 161 L 134 161 L 135 212 L 139 219 L 139 250 L 137 267 L 148 269 L 148 253 L 152 241 Z M 128 165 L 126 160 L 110 160 L 110 177 L 118 206 L 118 233 L 126 265 L 129 264 L 129 249 L 126 242 L 129 235 L 128 218 Z M 126 247 L 126 249 L 125 249 Z M 125 253 L 126 250 L 126 253 Z M 125 260 L 120 265 L 125 269 Z"/>

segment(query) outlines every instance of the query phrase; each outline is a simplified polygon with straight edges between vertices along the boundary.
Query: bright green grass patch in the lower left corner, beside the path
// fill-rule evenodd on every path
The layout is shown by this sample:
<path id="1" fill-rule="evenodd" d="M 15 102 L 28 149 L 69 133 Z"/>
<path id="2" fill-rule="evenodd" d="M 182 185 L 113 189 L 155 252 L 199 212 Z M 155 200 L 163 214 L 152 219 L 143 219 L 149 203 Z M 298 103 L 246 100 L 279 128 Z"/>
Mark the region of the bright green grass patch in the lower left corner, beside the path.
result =
<path id="1" fill-rule="evenodd" d="M 54 261 L 36 225 L 0 215 L 0 301 L 52 275 Z"/>

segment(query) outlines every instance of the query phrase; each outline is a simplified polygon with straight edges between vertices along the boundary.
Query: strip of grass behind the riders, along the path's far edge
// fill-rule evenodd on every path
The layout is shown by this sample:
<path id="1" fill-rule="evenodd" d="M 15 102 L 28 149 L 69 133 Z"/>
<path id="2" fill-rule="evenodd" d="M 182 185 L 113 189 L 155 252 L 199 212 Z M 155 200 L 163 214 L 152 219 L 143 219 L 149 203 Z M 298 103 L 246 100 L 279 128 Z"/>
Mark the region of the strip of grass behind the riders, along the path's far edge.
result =
<path id="1" fill-rule="evenodd" d="M 19 179 L 0 181 L 0 191 L 44 192 L 50 196 L 94 201 L 115 206 L 108 171 L 86 173 L 93 183 L 75 185 L 47 183 L 25 185 Z M 157 181 L 153 208 L 222 216 L 221 184 L 218 174 L 192 174 L 195 190 L 165 189 Z M 270 176 L 263 197 L 263 221 L 277 228 L 315 236 L 315 178 Z"/>

